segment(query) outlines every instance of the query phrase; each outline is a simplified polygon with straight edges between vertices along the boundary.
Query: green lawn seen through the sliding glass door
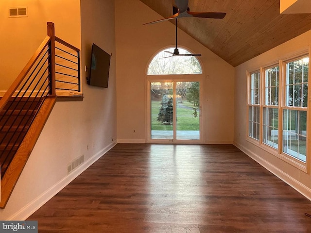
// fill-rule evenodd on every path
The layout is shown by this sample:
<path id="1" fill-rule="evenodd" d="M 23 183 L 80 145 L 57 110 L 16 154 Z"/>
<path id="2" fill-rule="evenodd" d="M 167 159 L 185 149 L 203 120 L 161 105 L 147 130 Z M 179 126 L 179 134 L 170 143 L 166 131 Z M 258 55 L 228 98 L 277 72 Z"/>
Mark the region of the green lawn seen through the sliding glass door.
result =
<path id="1" fill-rule="evenodd" d="M 161 101 L 151 102 L 151 130 L 173 130 L 173 125 L 164 125 L 156 120 L 161 107 Z M 188 101 L 177 105 L 177 130 L 199 130 L 199 117 L 192 115 L 193 104 Z M 198 113 L 199 115 L 199 113 Z"/>

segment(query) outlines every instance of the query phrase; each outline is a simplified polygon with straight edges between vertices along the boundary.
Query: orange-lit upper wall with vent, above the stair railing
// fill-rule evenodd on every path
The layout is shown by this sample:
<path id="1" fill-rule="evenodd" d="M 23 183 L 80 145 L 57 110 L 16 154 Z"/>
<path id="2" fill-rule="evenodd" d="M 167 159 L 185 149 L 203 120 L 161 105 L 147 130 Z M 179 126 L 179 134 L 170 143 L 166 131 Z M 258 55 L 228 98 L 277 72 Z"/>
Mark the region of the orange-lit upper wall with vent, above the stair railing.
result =
<path id="1" fill-rule="evenodd" d="M 80 48 L 79 0 L 0 0 L 0 96 L 7 90 L 47 35 L 55 34 Z M 9 8 L 28 7 L 28 17 L 9 18 Z M 17 59 L 18 58 L 18 59 Z"/>

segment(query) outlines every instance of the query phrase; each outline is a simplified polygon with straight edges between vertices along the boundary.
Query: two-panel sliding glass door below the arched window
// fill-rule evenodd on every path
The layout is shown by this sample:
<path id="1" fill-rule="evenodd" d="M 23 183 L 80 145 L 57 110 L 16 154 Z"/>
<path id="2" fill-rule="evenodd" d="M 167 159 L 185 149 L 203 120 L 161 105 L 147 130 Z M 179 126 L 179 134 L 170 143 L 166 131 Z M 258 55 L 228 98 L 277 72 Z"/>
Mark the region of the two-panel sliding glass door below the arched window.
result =
<path id="1" fill-rule="evenodd" d="M 200 81 L 150 81 L 147 141 L 201 143 Z"/>

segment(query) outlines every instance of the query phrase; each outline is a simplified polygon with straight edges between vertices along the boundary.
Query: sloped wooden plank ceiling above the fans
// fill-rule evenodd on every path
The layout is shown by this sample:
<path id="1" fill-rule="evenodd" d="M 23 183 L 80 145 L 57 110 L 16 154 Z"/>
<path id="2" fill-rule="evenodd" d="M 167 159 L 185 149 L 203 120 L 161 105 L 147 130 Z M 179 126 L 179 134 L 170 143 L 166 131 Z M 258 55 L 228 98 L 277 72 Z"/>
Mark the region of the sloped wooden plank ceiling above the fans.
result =
<path id="1" fill-rule="evenodd" d="M 171 0 L 140 1 L 163 17 L 173 14 Z M 279 1 L 189 0 L 192 12 L 227 14 L 224 19 L 180 18 L 178 28 L 236 67 L 311 30 L 311 14 L 279 14 Z"/>

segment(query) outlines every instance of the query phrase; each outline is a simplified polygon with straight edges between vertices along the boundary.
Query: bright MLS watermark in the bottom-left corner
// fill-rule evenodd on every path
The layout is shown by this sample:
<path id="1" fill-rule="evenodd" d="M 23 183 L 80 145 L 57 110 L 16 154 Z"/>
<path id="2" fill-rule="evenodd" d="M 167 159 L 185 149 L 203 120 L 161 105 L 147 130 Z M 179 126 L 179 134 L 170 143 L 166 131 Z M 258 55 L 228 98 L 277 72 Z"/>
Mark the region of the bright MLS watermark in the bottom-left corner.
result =
<path id="1" fill-rule="evenodd" d="M 38 233 L 38 221 L 0 221 L 2 233 Z"/>

